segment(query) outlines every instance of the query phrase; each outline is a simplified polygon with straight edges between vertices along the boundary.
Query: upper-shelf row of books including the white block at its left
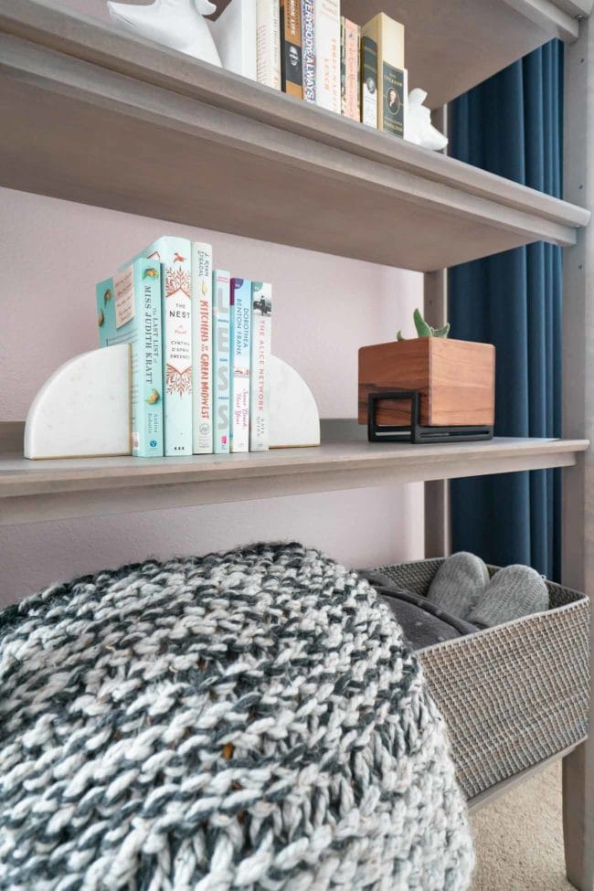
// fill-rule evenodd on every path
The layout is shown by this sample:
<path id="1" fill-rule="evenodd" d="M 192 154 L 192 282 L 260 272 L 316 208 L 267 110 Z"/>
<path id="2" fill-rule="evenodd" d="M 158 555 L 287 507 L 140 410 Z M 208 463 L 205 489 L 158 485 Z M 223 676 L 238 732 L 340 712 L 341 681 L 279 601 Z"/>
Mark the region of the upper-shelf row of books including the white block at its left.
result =
<path id="1" fill-rule="evenodd" d="M 211 29 L 226 68 L 405 135 L 405 29 L 385 13 L 360 27 L 340 0 L 231 0 Z"/>

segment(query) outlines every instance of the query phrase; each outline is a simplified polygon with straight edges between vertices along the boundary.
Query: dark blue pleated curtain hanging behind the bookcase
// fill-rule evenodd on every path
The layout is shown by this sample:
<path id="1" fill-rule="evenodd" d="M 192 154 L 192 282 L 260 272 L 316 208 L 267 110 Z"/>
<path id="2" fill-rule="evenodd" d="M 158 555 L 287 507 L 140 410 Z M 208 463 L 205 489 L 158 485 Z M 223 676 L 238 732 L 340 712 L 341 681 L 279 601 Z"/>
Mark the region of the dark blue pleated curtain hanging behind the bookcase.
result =
<path id="1" fill-rule="evenodd" d="M 563 45 L 553 41 L 453 102 L 451 154 L 562 191 Z M 561 249 L 538 243 L 450 270 L 451 336 L 496 347 L 495 435 L 561 433 Z M 560 472 L 451 483 L 454 550 L 560 573 Z"/>

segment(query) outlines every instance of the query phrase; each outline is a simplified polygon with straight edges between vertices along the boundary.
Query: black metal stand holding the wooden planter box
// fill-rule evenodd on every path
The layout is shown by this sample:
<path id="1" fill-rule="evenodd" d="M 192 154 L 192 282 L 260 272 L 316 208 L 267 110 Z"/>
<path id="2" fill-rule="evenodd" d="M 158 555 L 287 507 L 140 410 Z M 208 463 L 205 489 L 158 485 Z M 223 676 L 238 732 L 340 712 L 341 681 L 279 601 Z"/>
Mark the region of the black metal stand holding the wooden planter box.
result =
<path id="1" fill-rule="evenodd" d="M 388 427 L 377 424 L 377 403 L 410 400 L 410 425 Z M 367 439 L 370 442 L 465 442 L 493 440 L 493 427 L 422 427 L 419 390 L 380 390 L 367 398 Z"/>

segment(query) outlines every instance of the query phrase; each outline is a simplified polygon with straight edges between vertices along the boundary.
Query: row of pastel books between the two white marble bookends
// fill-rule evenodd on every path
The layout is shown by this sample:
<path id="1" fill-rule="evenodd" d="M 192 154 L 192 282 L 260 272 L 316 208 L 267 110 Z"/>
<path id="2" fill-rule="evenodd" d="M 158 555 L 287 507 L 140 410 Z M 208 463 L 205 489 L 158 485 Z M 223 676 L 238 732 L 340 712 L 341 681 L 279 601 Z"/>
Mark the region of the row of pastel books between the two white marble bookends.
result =
<path id="1" fill-rule="evenodd" d="M 132 346 L 133 455 L 266 451 L 271 287 L 164 236 L 96 288 L 100 345 Z"/>

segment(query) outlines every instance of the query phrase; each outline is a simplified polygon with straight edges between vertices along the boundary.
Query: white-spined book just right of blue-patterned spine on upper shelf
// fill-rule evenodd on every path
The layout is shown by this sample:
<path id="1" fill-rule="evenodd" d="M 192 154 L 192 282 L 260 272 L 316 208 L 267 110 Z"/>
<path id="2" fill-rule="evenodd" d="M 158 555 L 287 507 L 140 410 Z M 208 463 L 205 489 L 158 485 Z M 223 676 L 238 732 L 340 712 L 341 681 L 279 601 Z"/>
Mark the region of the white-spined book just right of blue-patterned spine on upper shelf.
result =
<path id="1" fill-rule="evenodd" d="M 315 0 L 315 101 L 340 114 L 340 2 Z"/>

